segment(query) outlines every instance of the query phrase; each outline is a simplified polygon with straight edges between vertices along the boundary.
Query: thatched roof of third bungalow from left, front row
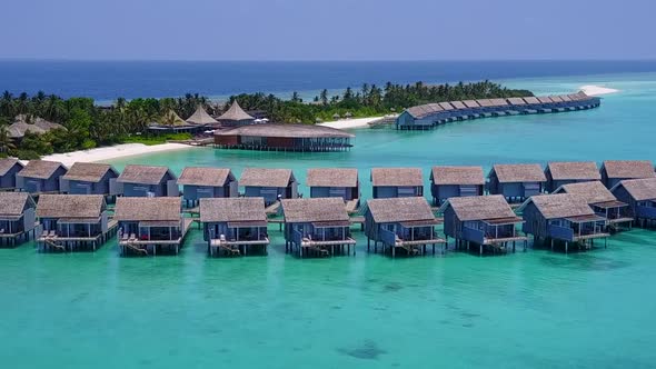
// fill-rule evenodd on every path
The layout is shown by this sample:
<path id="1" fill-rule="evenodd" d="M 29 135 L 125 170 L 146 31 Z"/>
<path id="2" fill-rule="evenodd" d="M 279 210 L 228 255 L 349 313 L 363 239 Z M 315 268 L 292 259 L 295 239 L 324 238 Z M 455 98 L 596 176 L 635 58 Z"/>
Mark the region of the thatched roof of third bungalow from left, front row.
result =
<path id="1" fill-rule="evenodd" d="M 115 219 L 125 221 L 179 221 L 182 216 L 179 197 L 126 198 L 116 202 Z"/>

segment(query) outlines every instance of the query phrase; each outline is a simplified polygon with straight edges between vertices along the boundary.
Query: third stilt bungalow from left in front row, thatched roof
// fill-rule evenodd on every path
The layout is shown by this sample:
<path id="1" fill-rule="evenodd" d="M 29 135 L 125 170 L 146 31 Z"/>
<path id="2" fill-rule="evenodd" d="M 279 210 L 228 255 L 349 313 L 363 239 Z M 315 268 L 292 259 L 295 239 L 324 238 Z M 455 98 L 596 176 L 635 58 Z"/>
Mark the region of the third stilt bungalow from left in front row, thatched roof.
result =
<path id="1" fill-rule="evenodd" d="M 119 249 L 122 256 L 178 255 L 191 225 L 182 218 L 179 197 L 117 199 L 115 219 L 119 227 Z"/>

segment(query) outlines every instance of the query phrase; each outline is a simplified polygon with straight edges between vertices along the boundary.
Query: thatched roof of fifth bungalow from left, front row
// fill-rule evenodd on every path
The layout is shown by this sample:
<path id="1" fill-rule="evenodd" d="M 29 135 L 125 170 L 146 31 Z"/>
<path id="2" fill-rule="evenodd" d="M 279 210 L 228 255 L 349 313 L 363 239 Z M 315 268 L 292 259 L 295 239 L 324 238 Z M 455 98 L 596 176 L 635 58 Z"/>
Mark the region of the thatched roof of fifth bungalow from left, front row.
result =
<path id="1" fill-rule="evenodd" d="M 289 223 L 349 221 L 341 198 L 284 199 L 282 212 Z"/>

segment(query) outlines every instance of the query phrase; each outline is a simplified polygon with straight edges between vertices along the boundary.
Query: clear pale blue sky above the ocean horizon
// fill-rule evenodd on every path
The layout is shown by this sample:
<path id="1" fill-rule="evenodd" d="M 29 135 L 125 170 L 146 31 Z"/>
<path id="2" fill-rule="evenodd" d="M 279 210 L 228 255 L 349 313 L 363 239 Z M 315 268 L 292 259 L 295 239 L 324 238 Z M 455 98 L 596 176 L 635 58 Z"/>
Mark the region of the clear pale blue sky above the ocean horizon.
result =
<path id="1" fill-rule="evenodd" d="M 2 2 L 2 59 L 656 59 L 654 0 Z"/>

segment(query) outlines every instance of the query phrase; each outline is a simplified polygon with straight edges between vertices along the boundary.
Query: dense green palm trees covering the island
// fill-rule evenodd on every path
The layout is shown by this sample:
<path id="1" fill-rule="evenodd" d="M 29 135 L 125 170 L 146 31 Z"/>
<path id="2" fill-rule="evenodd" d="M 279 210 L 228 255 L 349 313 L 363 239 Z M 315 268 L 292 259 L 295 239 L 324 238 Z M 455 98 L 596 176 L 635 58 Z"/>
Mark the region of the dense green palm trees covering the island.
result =
<path id="1" fill-rule="evenodd" d="M 119 98 L 113 107 L 101 108 L 89 98 L 61 99 L 54 94 L 38 92 L 34 96 L 13 96 L 6 91 L 0 97 L 0 157 L 16 156 L 36 159 L 54 152 L 69 152 L 122 142 L 146 144 L 162 143 L 167 140 L 186 140 L 189 134 L 153 136 L 148 131 L 151 122 L 172 124 L 169 111 L 187 118 L 200 104 L 210 114 L 225 111 L 233 100 L 246 110 L 262 110 L 276 122 L 315 123 L 344 117 L 371 117 L 426 102 L 449 100 L 507 98 L 533 96 L 526 90 L 509 90 L 497 83 L 457 83 L 428 86 L 387 83 L 384 88 L 362 84 L 359 91 L 348 88 L 341 94 L 330 96 L 321 91 L 311 102 L 304 102 L 297 92 L 289 100 L 274 94 L 254 93 L 230 97 L 222 106 L 215 106 L 206 97 L 186 94 L 181 98 L 133 99 Z M 52 129 L 42 134 L 27 132 L 14 140 L 8 127 L 19 114 L 30 123 L 37 117 L 59 123 L 66 129 Z"/>

